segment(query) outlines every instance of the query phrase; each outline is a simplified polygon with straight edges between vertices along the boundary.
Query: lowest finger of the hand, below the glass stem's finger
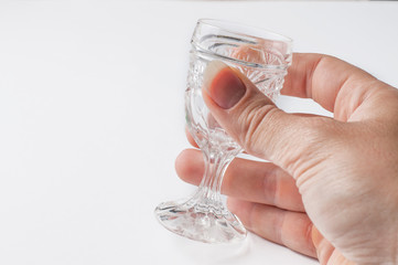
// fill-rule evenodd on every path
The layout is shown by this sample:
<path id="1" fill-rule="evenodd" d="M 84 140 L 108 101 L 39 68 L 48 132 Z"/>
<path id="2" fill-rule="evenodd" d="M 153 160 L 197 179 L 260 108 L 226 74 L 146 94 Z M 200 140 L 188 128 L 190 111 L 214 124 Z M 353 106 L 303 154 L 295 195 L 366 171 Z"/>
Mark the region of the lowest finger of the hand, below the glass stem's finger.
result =
<path id="1" fill-rule="evenodd" d="M 305 213 L 228 198 L 228 209 L 251 232 L 308 256 L 316 257 L 312 223 Z"/>

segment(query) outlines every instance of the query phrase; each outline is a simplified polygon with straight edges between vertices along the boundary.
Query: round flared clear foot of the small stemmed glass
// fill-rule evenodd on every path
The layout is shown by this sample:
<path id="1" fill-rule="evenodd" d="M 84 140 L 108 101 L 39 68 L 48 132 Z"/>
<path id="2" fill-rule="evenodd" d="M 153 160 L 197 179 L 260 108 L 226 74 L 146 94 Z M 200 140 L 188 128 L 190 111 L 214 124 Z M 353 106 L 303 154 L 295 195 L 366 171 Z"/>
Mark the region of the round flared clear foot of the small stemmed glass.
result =
<path id="1" fill-rule="evenodd" d="M 239 219 L 222 202 L 208 198 L 164 202 L 154 210 L 159 222 L 168 230 L 205 243 L 233 243 L 246 237 Z"/>

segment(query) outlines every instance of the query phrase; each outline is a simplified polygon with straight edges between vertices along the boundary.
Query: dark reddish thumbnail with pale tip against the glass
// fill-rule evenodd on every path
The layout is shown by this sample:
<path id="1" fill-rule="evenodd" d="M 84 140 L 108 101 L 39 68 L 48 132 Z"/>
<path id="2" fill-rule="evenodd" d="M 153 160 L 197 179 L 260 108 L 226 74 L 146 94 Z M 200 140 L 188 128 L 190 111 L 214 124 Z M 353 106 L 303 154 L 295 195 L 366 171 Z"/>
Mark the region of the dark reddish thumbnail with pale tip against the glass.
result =
<path id="1" fill-rule="evenodd" d="M 208 95 L 224 109 L 234 107 L 246 93 L 245 84 L 220 61 L 209 62 L 203 78 Z"/>

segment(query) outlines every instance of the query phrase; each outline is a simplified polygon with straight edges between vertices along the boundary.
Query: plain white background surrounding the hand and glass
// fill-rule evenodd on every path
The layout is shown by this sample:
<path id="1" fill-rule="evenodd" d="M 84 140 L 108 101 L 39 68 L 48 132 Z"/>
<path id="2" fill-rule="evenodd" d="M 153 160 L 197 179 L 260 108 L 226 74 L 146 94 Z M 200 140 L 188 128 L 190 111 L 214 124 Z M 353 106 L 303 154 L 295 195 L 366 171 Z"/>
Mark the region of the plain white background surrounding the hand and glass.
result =
<path id="1" fill-rule="evenodd" d="M 0 1 L 0 264 L 316 264 L 249 235 L 195 243 L 154 206 L 174 159 L 198 18 L 269 29 L 398 86 L 396 2 Z M 329 115 L 304 99 L 288 112 Z"/>

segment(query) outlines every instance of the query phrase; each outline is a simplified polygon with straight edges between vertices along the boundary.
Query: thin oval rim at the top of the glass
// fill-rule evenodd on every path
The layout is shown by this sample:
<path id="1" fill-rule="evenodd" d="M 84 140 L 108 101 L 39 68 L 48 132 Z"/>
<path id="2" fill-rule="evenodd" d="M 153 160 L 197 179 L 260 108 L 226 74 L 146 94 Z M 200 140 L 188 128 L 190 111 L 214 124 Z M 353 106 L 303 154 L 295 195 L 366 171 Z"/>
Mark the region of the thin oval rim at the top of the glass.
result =
<path id="1" fill-rule="evenodd" d="M 252 36 L 252 38 L 268 40 L 268 41 L 280 41 L 280 42 L 286 42 L 289 45 L 291 45 L 293 43 L 293 40 L 291 38 L 286 36 L 286 35 L 280 34 L 280 33 L 276 33 L 276 32 L 267 30 L 267 29 L 262 29 L 260 26 L 247 25 L 247 24 L 244 24 L 244 23 L 238 23 L 238 22 L 228 21 L 228 20 L 206 19 L 206 18 L 198 19 L 197 22 L 202 23 L 202 24 L 207 24 L 209 26 L 218 28 L 220 30 L 224 30 L 224 31 L 227 31 L 227 32 L 230 32 L 230 33 L 234 33 L 234 34 L 238 34 L 238 35 L 247 35 L 247 36 Z M 258 34 L 250 34 L 250 33 L 248 34 L 248 33 L 239 32 L 239 31 L 236 31 L 236 30 L 228 29 L 228 25 L 229 26 L 236 25 L 238 28 L 246 28 L 248 30 L 256 31 L 256 32 L 259 32 L 259 33 Z M 269 38 L 261 36 L 261 33 L 262 34 L 268 34 L 270 36 Z"/>

